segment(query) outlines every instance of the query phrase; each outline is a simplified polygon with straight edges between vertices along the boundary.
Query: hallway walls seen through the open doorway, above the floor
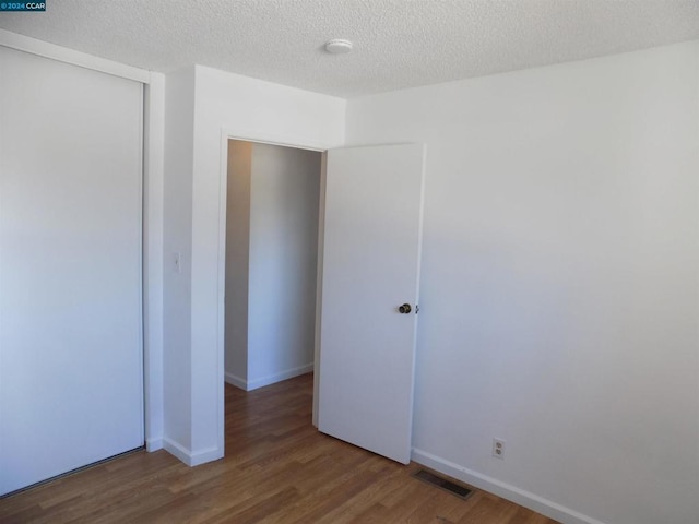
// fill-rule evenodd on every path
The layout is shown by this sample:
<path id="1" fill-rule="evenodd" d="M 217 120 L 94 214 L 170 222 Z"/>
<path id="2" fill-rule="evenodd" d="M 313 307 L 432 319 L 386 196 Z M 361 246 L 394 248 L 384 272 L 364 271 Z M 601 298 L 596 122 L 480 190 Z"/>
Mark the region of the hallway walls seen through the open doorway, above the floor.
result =
<path id="1" fill-rule="evenodd" d="M 313 371 L 322 153 L 227 141 L 225 381 Z"/>

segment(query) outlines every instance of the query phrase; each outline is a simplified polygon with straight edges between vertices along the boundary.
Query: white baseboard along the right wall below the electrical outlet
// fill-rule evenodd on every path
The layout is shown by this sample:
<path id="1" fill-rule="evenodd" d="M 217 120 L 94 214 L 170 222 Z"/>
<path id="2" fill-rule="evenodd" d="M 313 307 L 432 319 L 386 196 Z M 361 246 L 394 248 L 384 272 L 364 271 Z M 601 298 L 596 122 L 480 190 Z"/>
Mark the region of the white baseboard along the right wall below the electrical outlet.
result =
<path id="1" fill-rule="evenodd" d="M 433 455 L 426 451 L 413 448 L 412 460 L 436 472 L 470 484 L 475 488 L 483 489 L 484 491 L 502 497 L 524 508 L 529 508 L 555 521 L 565 524 L 604 524 L 570 508 L 557 504 L 537 495 L 530 493 L 529 491 L 488 477 L 487 475 L 460 466 L 459 464 Z"/>

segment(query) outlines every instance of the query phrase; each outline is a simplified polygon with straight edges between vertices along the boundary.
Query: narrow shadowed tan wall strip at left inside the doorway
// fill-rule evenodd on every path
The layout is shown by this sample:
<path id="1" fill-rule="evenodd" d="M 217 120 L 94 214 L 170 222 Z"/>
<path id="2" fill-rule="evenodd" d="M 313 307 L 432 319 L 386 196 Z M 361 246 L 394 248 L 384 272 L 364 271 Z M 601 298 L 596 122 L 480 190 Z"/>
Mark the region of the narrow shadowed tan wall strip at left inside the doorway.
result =
<path id="1" fill-rule="evenodd" d="M 228 141 L 226 201 L 226 382 L 247 390 L 252 142 Z"/>

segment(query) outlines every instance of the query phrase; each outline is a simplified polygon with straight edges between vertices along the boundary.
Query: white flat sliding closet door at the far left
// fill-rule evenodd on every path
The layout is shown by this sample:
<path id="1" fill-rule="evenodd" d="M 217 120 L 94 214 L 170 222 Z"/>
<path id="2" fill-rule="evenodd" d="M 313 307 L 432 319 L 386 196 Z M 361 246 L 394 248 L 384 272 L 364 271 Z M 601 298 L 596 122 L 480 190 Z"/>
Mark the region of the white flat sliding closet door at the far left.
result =
<path id="1" fill-rule="evenodd" d="M 142 84 L 0 47 L 0 493 L 143 445 Z"/>

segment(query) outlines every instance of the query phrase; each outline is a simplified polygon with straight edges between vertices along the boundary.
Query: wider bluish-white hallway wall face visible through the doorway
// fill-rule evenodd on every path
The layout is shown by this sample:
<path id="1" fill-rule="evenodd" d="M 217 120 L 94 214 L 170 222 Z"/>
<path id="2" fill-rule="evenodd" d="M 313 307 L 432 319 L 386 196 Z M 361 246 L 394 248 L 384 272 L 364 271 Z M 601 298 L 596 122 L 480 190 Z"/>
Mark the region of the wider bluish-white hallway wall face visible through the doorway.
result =
<path id="1" fill-rule="evenodd" d="M 312 369 L 320 156 L 252 147 L 249 390 Z"/>

